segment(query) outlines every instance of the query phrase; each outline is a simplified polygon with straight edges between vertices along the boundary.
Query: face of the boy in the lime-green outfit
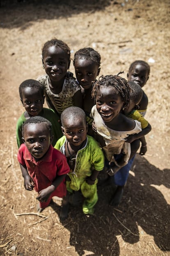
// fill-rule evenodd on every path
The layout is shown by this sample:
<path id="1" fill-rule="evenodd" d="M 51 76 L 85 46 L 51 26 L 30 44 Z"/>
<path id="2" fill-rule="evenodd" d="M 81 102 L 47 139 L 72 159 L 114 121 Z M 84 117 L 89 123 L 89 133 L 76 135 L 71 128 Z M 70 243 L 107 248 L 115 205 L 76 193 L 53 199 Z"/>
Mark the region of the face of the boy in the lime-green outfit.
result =
<path id="1" fill-rule="evenodd" d="M 87 137 L 87 124 L 84 120 L 66 120 L 62 132 L 73 146 L 80 146 Z"/>

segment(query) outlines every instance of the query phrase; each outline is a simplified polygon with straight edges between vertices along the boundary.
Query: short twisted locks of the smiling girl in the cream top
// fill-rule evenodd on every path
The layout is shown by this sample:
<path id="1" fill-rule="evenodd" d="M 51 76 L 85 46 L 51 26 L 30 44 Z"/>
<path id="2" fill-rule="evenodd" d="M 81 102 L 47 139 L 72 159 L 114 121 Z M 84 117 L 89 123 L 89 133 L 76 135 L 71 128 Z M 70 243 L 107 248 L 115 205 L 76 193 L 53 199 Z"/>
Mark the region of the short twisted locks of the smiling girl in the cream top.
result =
<path id="1" fill-rule="evenodd" d="M 130 101 L 130 87 L 126 79 L 118 75 L 106 75 L 99 77 L 99 80 L 94 82 L 92 89 L 92 97 L 96 99 L 96 94 L 100 90 L 100 86 L 113 87 L 113 92 L 119 94 L 124 102 L 124 108 L 128 106 Z"/>

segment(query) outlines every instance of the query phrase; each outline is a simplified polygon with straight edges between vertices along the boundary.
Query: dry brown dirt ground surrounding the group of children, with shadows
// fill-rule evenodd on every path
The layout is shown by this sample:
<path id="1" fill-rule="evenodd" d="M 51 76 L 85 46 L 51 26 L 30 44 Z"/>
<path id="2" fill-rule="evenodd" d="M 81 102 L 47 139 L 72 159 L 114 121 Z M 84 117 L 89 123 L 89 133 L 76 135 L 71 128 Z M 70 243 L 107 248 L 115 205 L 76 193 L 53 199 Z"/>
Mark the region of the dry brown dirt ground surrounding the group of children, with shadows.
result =
<path id="1" fill-rule="evenodd" d="M 169 17 L 169 0 L 1 1 L 0 255 L 170 255 Z M 16 158 L 16 121 L 24 111 L 18 87 L 44 74 L 41 49 L 54 37 L 69 45 L 72 57 L 94 47 L 103 75 L 124 71 L 126 78 L 132 61 L 151 61 L 144 90 L 152 131 L 146 155 L 136 155 L 121 204 L 111 207 L 112 189 L 99 187 L 94 216 L 71 207 L 63 223 L 57 199 L 36 215 L 36 193 L 24 189 Z"/>

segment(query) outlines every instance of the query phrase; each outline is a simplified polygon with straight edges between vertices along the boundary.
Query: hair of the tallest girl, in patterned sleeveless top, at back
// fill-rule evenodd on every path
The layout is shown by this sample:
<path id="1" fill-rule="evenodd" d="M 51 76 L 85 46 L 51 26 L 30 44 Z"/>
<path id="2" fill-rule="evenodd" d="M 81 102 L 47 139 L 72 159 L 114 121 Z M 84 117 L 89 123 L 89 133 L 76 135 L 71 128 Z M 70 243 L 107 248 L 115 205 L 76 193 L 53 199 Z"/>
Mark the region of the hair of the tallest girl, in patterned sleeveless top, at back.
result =
<path id="1" fill-rule="evenodd" d="M 45 52 L 47 50 L 48 47 L 51 46 L 55 46 L 55 47 L 60 47 L 61 49 L 63 49 L 63 51 L 68 55 L 68 60 L 70 59 L 70 48 L 68 47 L 68 45 L 63 42 L 62 40 L 58 40 L 56 38 L 53 38 L 47 42 L 45 42 L 43 49 L 42 49 L 42 58 L 44 59 L 45 56 Z"/>

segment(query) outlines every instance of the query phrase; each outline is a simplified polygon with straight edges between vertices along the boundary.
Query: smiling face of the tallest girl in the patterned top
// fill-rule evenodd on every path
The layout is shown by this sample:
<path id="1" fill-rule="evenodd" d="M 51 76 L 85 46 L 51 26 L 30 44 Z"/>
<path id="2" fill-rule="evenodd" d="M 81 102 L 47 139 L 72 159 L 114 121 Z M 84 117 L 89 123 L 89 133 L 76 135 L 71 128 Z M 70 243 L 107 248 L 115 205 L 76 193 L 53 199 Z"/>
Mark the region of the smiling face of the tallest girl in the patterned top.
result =
<path id="1" fill-rule="evenodd" d="M 50 46 L 46 49 L 43 63 L 50 80 L 57 82 L 66 75 L 70 61 L 68 54 L 62 48 Z"/>

